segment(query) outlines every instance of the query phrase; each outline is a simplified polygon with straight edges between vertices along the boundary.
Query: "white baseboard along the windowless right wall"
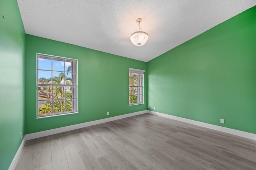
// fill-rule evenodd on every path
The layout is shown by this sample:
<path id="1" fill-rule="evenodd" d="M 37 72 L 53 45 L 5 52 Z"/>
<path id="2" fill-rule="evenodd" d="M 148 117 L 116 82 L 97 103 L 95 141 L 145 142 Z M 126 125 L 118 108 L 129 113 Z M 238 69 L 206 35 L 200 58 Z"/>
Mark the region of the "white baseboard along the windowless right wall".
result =
<path id="1" fill-rule="evenodd" d="M 182 118 L 182 117 L 177 117 L 177 116 L 173 116 L 173 115 L 167 115 L 167 114 L 159 113 L 159 112 L 156 112 L 156 111 L 148 110 L 148 113 L 153 114 L 153 115 L 158 115 L 158 116 L 161 116 L 161 117 L 166 117 L 166 118 L 169 118 L 169 119 L 174 119 L 174 120 L 177 120 L 177 121 L 190 123 L 192 125 L 198 125 L 198 126 L 206 127 L 206 128 L 213 129 L 213 130 L 216 130 L 216 131 L 221 131 L 221 132 L 229 133 L 229 134 L 232 134 L 232 135 L 237 135 L 237 136 L 240 136 L 240 137 L 245 137 L 245 138 L 248 138 L 248 139 L 256 140 L 256 134 L 254 134 L 254 133 L 238 131 L 236 129 L 230 129 L 230 128 L 227 128 L 227 127 L 212 125 L 212 124 L 209 124 L 209 123 L 203 123 L 203 122 L 200 122 L 200 121 L 195 121 L 195 120 L 186 119 L 186 118 Z"/>

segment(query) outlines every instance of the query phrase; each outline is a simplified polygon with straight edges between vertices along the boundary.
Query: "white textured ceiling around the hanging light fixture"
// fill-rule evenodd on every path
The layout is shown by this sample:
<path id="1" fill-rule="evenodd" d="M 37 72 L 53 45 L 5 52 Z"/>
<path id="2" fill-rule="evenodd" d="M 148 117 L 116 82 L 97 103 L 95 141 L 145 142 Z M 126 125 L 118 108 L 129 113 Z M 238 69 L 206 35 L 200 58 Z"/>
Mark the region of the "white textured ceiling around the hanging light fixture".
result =
<path id="1" fill-rule="evenodd" d="M 256 0 L 17 0 L 25 32 L 150 61 L 256 5 Z M 135 46 L 137 18 L 148 42 Z"/>

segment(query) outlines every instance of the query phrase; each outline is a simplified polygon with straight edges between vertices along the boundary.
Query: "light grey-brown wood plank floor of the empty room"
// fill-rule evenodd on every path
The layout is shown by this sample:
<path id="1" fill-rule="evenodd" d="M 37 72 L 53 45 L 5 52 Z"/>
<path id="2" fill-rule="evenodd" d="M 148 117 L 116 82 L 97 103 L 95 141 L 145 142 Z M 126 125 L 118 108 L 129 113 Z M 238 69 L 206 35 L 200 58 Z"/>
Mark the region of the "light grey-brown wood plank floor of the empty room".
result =
<path id="1" fill-rule="evenodd" d="M 142 114 L 26 141 L 15 170 L 256 170 L 256 141 Z"/>

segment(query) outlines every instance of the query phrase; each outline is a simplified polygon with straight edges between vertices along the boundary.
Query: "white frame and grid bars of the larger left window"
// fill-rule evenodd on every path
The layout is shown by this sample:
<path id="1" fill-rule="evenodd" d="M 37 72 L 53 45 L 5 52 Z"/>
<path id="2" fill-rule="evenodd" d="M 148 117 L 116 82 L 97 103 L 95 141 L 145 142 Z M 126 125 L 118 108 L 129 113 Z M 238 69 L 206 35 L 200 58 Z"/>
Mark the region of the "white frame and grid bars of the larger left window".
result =
<path id="1" fill-rule="evenodd" d="M 50 69 L 39 69 L 38 68 L 38 59 L 51 59 L 51 70 Z M 53 70 L 53 61 L 63 61 L 64 60 L 64 71 L 59 71 L 59 70 Z M 66 71 L 66 62 L 71 62 L 72 63 L 72 70 L 71 71 Z M 63 72 L 64 73 L 64 84 L 54 84 L 53 80 L 50 82 L 50 84 L 39 84 L 39 76 L 38 76 L 38 71 L 50 71 L 51 72 L 51 79 L 53 79 L 53 72 Z M 72 75 L 72 84 L 66 84 L 66 73 L 71 74 Z M 62 82 L 60 82 L 62 83 Z M 54 99 L 52 97 L 52 99 L 46 99 L 46 100 L 39 100 L 39 87 L 51 87 L 52 88 L 52 93 L 53 93 L 53 89 L 54 87 L 64 87 L 64 98 L 62 98 L 62 100 L 64 101 L 64 111 L 59 112 L 59 113 L 48 113 L 48 114 L 42 114 L 39 115 L 39 101 L 51 101 L 52 105 L 54 103 L 54 100 L 60 100 L 60 99 Z M 66 90 L 67 88 L 72 88 L 72 98 L 66 98 Z M 62 88 L 63 89 L 63 88 Z M 74 90 L 76 89 L 76 90 Z M 66 111 L 66 102 L 67 101 L 72 100 L 72 109 L 73 111 Z M 58 116 L 58 115 L 67 115 L 67 114 L 74 114 L 74 113 L 78 113 L 78 60 L 77 59 L 70 59 L 70 58 L 66 58 L 66 57 L 58 57 L 58 56 L 53 56 L 53 55 L 45 55 L 45 54 L 40 54 L 40 53 L 36 53 L 36 118 L 43 118 L 43 117 L 52 117 L 52 116 Z M 53 112 L 53 107 L 52 107 L 52 112 Z M 63 109 L 63 107 L 62 107 Z"/>

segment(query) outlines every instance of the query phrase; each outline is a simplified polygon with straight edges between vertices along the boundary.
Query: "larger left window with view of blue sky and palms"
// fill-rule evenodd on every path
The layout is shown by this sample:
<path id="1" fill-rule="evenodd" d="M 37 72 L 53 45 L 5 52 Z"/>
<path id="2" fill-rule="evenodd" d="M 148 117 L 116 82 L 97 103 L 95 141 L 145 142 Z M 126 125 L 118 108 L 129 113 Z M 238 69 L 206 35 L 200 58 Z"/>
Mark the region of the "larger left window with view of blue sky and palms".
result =
<path id="1" fill-rule="evenodd" d="M 77 60 L 37 54 L 37 117 L 78 112 Z"/>

